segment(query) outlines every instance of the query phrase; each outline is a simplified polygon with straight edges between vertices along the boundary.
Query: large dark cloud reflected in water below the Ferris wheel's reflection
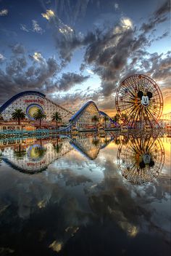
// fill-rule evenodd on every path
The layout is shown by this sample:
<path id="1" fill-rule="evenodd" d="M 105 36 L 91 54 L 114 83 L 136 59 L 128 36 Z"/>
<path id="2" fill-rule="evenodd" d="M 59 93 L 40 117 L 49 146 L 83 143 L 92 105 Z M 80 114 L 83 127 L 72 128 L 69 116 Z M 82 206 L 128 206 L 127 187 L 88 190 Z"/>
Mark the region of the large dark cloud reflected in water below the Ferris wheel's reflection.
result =
<path id="1" fill-rule="evenodd" d="M 158 233 L 169 241 L 169 193 L 164 195 L 164 190 L 157 184 L 143 187 L 125 184 L 120 175 L 114 175 L 113 169 L 110 177 L 109 165 L 107 161 L 108 173 L 104 181 L 88 191 L 92 211 L 99 217 L 112 219 L 129 236 L 138 232 Z M 161 204 L 167 207 L 161 210 Z"/>

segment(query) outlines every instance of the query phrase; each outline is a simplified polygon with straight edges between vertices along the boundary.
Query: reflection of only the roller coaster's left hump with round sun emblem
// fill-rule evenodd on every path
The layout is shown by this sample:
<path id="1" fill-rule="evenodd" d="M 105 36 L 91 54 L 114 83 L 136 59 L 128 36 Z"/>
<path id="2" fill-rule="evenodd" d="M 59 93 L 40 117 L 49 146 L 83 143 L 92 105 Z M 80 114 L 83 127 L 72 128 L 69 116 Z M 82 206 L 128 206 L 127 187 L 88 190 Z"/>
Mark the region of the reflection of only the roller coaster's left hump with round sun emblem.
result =
<path id="1" fill-rule="evenodd" d="M 20 172 L 34 174 L 42 172 L 49 164 L 69 153 L 72 147 L 67 138 L 56 140 L 38 140 L 28 145 L 25 150 L 8 148 L 2 154 L 2 160 L 13 169 Z"/>

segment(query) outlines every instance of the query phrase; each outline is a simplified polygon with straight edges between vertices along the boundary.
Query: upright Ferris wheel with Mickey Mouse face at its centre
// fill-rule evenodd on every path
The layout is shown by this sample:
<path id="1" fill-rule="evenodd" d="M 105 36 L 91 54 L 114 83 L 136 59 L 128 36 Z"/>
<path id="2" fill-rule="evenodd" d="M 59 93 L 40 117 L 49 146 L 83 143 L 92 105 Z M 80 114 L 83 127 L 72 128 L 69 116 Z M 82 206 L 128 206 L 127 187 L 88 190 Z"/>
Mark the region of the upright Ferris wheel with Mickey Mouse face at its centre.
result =
<path id="1" fill-rule="evenodd" d="M 153 127 L 162 115 L 162 92 L 149 76 L 129 76 L 117 89 L 116 108 L 125 124 L 136 127 L 140 122 Z"/>

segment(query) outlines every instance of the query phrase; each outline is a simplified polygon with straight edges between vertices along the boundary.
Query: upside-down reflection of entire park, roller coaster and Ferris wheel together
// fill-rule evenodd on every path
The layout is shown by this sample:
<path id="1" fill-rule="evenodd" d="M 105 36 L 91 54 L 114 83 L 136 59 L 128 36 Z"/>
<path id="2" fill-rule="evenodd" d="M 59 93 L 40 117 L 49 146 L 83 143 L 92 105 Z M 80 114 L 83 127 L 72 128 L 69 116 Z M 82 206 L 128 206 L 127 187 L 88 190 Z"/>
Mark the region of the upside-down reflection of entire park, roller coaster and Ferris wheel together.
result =
<path id="1" fill-rule="evenodd" d="M 164 165 L 161 135 L 150 133 L 105 135 L 59 135 L 55 138 L 1 140 L 0 156 L 20 172 L 42 172 L 49 164 L 75 149 L 87 159 L 95 160 L 101 149 L 114 142 L 119 145 L 117 167 L 126 180 L 134 184 L 148 183 L 158 177 Z M 167 135 L 168 137 L 169 135 Z"/>

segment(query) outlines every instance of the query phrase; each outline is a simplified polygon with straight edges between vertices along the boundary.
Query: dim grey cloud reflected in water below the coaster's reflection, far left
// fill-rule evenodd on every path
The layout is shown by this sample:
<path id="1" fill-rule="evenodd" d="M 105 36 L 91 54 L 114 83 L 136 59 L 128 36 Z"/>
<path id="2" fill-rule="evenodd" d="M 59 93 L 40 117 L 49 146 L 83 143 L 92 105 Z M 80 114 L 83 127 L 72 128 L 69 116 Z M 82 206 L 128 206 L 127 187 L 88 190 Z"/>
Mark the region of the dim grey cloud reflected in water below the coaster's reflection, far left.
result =
<path id="1" fill-rule="evenodd" d="M 48 186 L 42 188 L 41 179 L 36 176 L 31 178 L 8 169 L 1 172 L 0 200 L 16 207 L 19 217 L 30 217 L 39 201 L 49 201 L 49 192 Z"/>

